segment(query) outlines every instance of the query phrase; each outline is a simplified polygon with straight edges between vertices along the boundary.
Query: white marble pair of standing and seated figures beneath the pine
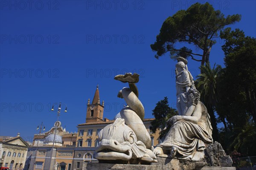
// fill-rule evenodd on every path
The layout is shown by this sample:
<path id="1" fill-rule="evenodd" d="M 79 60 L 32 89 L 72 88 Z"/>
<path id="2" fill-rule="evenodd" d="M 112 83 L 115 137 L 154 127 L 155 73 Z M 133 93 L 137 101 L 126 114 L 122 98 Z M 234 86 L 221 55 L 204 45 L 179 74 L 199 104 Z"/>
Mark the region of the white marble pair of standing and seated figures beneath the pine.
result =
<path id="1" fill-rule="evenodd" d="M 187 60 L 183 57 L 177 60 L 175 72 L 179 115 L 167 121 L 166 127 L 171 128 L 163 143 L 157 144 L 154 153 L 163 157 L 170 155 L 177 159 L 200 161 L 204 158 L 205 143 L 213 142 L 210 117 L 200 101 L 200 93 L 188 71 Z"/>

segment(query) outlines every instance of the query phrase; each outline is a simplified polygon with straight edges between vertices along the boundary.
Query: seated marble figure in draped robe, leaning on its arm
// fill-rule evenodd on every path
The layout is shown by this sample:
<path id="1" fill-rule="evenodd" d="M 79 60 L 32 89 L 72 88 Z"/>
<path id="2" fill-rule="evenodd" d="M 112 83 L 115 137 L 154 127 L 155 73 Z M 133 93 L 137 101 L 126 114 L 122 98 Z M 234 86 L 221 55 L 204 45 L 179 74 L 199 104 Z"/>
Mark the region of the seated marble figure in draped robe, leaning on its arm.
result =
<path id="1" fill-rule="evenodd" d="M 200 161 L 204 158 L 205 143 L 212 143 L 212 126 L 207 108 L 199 101 L 200 94 L 190 88 L 186 94 L 187 110 L 167 121 L 171 129 L 161 144 L 157 144 L 154 153 L 158 156 Z M 165 127 L 165 129 L 166 129 Z"/>

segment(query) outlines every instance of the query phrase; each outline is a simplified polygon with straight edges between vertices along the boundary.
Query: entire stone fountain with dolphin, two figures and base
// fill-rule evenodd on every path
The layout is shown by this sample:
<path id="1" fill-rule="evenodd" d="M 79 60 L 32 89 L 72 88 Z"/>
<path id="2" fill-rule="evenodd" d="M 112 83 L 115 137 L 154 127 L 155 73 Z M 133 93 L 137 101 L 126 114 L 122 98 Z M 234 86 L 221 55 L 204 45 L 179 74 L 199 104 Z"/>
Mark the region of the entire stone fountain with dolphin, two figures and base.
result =
<path id="1" fill-rule="evenodd" d="M 154 148 L 146 130 L 144 107 L 136 83 L 139 75 L 127 73 L 114 79 L 128 83 L 118 97 L 127 103 L 117 118 L 100 131 L 94 158 L 99 163 L 84 163 L 84 170 L 235 170 L 232 159 L 221 144 L 212 140 L 207 108 L 200 101 L 187 60 L 177 58 L 176 96 L 179 115 L 171 117 L 171 127 L 162 143 Z"/>

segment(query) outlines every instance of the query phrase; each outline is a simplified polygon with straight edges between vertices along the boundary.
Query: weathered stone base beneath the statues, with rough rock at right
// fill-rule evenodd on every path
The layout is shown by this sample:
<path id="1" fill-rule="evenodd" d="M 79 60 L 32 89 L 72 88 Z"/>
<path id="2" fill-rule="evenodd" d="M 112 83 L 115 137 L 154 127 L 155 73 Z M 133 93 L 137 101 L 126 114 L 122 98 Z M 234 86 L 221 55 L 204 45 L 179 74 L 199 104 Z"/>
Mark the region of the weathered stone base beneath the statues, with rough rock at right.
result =
<path id="1" fill-rule="evenodd" d="M 207 144 L 205 158 L 201 161 L 186 161 L 157 156 L 157 163 L 143 164 L 107 164 L 84 163 L 83 170 L 236 170 L 232 159 L 227 156 L 221 144 Z"/>

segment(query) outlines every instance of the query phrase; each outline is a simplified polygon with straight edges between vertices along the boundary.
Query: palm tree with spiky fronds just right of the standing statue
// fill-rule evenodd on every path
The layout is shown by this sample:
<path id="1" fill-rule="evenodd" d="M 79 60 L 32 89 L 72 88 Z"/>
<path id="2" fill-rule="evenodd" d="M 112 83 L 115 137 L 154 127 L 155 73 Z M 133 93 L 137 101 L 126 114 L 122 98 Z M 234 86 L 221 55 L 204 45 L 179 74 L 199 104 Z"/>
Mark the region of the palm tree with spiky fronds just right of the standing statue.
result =
<path id="1" fill-rule="evenodd" d="M 218 128 L 216 117 L 214 114 L 215 105 L 217 102 L 218 94 L 216 90 L 218 73 L 221 70 L 221 66 L 215 65 L 211 68 L 209 62 L 206 65 L 201 65 L 201 74 L 198 75 L 198 79 L 195 81 L 196 88 L 201 93 L 201 101 L 207 108 L 207 111 L 211 117 L 212 124 L 212 138 L 214 141 L 218 141 Z"/>

